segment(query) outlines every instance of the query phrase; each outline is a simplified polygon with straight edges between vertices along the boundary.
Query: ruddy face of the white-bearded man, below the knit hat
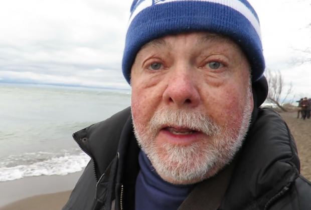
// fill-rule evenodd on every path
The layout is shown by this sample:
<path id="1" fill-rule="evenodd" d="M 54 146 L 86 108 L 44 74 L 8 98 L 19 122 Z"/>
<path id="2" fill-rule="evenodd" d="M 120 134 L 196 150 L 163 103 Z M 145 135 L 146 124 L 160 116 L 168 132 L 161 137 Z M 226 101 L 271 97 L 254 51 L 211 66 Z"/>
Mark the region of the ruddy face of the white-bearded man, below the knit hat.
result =
<path id="1" fill-rule="evenodd" d="M 249 69 L 234 42 L 208 33 L 167 36 L 137 53 L 134 131 L 163 179 L 195 183 L 232 160 L 253 109 Z"/>

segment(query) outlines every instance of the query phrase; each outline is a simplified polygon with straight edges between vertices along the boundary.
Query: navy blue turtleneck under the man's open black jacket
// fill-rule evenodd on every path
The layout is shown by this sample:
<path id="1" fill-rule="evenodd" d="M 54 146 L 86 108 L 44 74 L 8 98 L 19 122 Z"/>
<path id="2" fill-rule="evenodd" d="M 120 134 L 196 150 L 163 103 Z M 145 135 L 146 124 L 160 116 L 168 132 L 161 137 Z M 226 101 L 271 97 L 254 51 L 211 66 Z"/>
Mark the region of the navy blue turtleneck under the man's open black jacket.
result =
<path id="1" fill-rule="evenodd" d="M 171 184 L 163 180 L 140 151 L 140 171 L 136 179 L 135 210 L 176 210 L 193 188 L 191 185 Z"/>

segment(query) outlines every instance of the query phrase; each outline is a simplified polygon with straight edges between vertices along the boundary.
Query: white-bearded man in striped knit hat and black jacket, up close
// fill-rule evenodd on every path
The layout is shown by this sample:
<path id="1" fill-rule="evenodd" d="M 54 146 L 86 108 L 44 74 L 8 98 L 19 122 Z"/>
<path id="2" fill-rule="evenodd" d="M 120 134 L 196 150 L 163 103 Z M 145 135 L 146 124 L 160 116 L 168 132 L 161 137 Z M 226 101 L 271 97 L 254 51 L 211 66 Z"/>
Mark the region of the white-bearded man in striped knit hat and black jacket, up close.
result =
<path id="1" fill-rule="evenodd" d="M 134 1 L 131 107 L 74 134 L 92 160 L 63 209 L 311 209 L 267 95 L 247 1 Z"/>

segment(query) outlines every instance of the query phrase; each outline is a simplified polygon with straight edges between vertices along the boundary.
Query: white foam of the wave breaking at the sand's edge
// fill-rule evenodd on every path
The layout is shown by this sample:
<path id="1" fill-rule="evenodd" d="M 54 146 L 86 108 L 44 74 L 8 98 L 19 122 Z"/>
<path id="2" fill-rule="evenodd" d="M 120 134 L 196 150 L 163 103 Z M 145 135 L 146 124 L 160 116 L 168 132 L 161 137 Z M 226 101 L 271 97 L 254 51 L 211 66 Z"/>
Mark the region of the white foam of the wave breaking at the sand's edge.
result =
<path id="1" fill-rule="evenodd" d="M 85 153 L 78 155 L 65 154 L 64 156 L 52 157 L 31 164 L 0 167 L 0 181 L 10 181 L 27 176 L 67 175 L 68 173 L 81 171 L 89 160 L 89 156 Z"/>

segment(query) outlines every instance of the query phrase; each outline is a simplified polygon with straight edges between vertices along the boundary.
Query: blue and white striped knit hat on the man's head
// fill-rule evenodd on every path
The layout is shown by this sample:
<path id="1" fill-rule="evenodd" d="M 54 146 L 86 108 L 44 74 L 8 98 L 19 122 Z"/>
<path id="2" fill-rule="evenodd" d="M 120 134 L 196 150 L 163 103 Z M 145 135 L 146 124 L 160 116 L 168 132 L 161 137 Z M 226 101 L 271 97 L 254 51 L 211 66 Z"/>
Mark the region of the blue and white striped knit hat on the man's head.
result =
<path id="1" fill-rule="evenodd" d="M 246 0 L 134 0 L 122 59 L 130 71 L 140 48 L 151 40 L 183 32 L 206 31 L 231 38 L 243 50 L 252 68 L 252 80 L 264 72 L 260 25 Z"/>

